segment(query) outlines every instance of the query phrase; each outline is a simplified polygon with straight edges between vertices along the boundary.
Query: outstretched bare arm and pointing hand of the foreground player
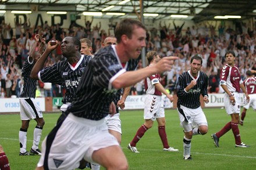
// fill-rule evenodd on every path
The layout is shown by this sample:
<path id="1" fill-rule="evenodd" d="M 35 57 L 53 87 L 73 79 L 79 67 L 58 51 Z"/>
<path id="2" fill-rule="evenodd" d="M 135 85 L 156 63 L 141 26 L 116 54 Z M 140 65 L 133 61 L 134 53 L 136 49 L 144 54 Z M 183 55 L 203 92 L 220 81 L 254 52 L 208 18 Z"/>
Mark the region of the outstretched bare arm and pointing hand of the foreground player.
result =
<path id="1" fill-rule="evenodd" d="M 111 84 L 115 89 L 134 85 L 141 81 L 141 79 L 150 77 L 150 75 L 169 71 L 172 68 L 171 65 L 173 64 L 173 60 L 176 59 L 178 59 L 178 57 L 164 57 L 157 64 L 154 64 L 154 66 L 151 66 L 150 68 L 145 67 L 136 71 L 124 70 L 123 73 L 120 73 L 120 75 L 116 75 L 117 77 L 114 76 L 113 79 L 111 79 Z"/>

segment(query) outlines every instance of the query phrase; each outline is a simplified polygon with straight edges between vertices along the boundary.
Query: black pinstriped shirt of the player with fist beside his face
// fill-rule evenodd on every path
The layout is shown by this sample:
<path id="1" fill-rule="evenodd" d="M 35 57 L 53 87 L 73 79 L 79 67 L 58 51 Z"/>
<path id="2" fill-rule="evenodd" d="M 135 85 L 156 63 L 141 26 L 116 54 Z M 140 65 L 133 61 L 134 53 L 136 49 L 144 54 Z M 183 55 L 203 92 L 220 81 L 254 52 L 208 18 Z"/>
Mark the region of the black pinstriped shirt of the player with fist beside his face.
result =
<path id="1" fill-rule="evenodd" d="M 82 55 L 75 67 L 71 66 L 67 60 L 55 63 L 50 67 L 43 68 L 38 73 L 38 78 L 42 82 L 58 84 L 66 89 L 62 103 L 71 103 L 76 93 L 79 81 L 86 69 L 91 56 Z"/>

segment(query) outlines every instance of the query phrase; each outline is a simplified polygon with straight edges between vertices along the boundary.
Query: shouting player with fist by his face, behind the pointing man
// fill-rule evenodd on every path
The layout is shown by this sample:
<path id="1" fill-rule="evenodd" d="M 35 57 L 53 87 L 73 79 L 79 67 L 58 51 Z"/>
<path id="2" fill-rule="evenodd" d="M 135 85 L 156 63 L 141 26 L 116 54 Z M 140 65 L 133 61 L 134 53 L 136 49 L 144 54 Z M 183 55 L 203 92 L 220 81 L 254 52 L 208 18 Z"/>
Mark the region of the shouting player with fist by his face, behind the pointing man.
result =
<path id="1" fill-rule="evenodd" d="M 65 96 L 62 99 L 63 105 L 61 106 L 61 110 L 64 113 L 73 101 L 81 75 L 84 73 L 91 56 L 80 55 L 81 43 L 79 39 L 65 37 L 61 42 L 61 50 L 66 60 L 44 68 L 47 57 L 57 46 L 58 42 L 56 45 L 51 45 L 51 42 L 48 42 L 47 49 L 35 63 L 30 76 L 34 79 L 40 79 L 42 82 L 61 85 L 66 89 Z"/>

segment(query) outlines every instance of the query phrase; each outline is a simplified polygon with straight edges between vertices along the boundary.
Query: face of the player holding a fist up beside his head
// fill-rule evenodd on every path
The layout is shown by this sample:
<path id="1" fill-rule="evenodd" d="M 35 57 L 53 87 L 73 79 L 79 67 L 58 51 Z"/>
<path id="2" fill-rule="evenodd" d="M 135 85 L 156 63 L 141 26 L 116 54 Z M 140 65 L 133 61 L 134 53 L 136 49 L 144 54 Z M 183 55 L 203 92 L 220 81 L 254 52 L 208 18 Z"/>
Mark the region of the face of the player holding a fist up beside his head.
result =
<path id="1" fill-rule="evenodd" d="M 76 46 L 74 45 L 72 37 L 65 37 L 61 42 L 62 55 L 69 57 L 76 53 Z"/>

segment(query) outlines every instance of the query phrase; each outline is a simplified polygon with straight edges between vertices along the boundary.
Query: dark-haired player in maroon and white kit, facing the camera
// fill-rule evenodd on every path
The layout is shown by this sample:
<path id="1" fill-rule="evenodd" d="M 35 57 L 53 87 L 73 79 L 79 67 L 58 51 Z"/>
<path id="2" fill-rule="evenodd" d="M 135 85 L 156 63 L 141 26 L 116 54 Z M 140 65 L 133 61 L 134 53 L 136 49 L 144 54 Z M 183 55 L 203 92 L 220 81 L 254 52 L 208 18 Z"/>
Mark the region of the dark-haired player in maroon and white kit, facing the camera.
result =
<path id="1" fill-rule="evenodd" d="M 219 132 L 212 134 L 212 139 L 214 139 L 214 144 L 219 147 L 219 138 L 225 135 L 230 129 L 232 129 L 234 134 L 234 139 L 236 142 L 236 147 L 247 147 L 246 144 L 241 142 L 241 137 L 239 133 L 239 114 L 240 114 L 240 100 L 239 92 L 240 88 L 246 95 L 247 102 L 250 101 L 250 96 L 244 88 L 243 81 L 241 80 L 241 75 L 239 73 L 239 68 L 235 66 L 234 60 L 235 55 L 232 50 L 228 50 L 225 54 L 227 64 L 221 70 L 221 86 L 226 92 L 224 96 L 224 104 L 226 113 L 230 115 L 231 121 L 228 122 Z"/>

